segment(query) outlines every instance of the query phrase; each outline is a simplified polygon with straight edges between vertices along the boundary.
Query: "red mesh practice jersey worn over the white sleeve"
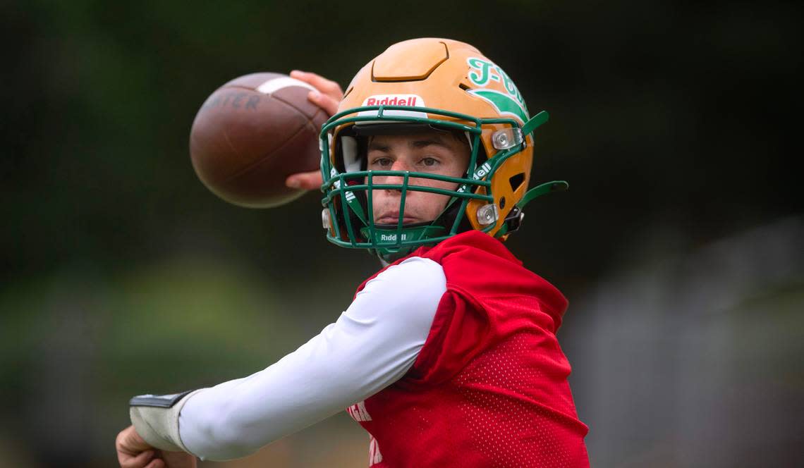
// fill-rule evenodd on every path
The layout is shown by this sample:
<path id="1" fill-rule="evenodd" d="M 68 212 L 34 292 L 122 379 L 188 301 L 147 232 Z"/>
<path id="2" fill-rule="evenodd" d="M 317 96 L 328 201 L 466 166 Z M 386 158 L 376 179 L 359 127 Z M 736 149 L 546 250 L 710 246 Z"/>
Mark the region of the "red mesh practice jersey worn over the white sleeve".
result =
<path id="1" fill-rule="evenodd" d="M 441 264 L 447 290 L 410 371 L 348 409 L 369 465 L 589 466 L 556 340 L 564 296 L 482 232 L 411 256 Z"/>

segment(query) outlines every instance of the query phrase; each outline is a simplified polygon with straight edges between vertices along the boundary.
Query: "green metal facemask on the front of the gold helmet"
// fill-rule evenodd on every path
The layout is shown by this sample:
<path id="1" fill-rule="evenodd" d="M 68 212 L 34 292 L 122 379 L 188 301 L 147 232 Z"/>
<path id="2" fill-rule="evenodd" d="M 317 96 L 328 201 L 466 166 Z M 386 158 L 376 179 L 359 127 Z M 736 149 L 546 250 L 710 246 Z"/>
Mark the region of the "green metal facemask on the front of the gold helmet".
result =
<path id="1" fill-rule="evenodd" d="M 370 113 L 371 115 L 366 115 Z M 391 115 L 389 115 L 391 114 Z M 404 115 L 408 114 L 408 115 Z M 419 117 L 421 115 L 434 115 L 449 117 L 463 122 L 442 120 L 440 118 Z M 460 113 L 452 113 L 441 109 L 411 108 L 402 106 L 367 106 L 349 109 L 338 113 L 326 121 L 321 131 L 320 146 L 322 150 L 321 170 L 324 179 L 322 192 L 324 198 L 322 213 L 324 227 L 327 228 L 327 240 L 333 244 L 348 248 L 366 248 L 384 261 L 392 262 L 408 255 L 422 245 L 433 245 L 466 230 L 468 223 L 465 220 L 466 205 L 472 199 L 486 202 L 478 210 L 478 220 L 485 225 L 483 232 L 490 232 L 497 224 L 494 194 L 491 193 L 491 179 L 494 173 L 507 158 L 518 154 L 525 147 L 525 137 L 537 126 L 547 121 L 545 112 L 539 113 L 525 125 L 509 118 L 480 119 Z M 360 125 L 369 128 L 370 123 L 394 123 L 404 125 L 429 125 L 435 129 L 444 129 L 464 133 L 469 137 L 471 154 L 466 172 L 461 177 L 449 177 L 440 174 L 422 173 L 400 170 L 346 170 L 345 167 L 335 167 L 330 163 L 330 132 L 341 125 Z M 498 150 L 486 162 L 478 165 L 478 150 L 481 148 L 480 136 L 483 125 L 507 124 L 513 129 L 510 134 L 513 142 L 501 144 L 503 149 Z M 527 130 L 527 133 L 526 133 Z M 518 139 L 517 139 L 518 138 Z M 495 142 L 495 146 L 496 142 Z M 343 162 L 343 155 L 336 157 Z M 396 177 L 402 183 L 388 184 L 375 183 L 375 177 Z M 425 187 L 409 183 L 411 179 L 433 180 L 454 183 L 454 190 L 445 190 L 437 187 Z M 479 194 L 478 187 L 484 187 L 486 194 Z M 539 186 L 543 187 L 544 186 Z M 539 188 L 537 187 L 537 188 Z M 374 222 L 372 205 L 372 192 L 375 190 L 400 191 L 400 216 L 396 225 L 377 225 Z M 404 205 L 409 191 L 423 191 L 439 195 L 446 195 L 449 201 L 441 214 L 435 220 L 427 223 L 403 224 Z M 531 193 L 531 192 L 528 192 Z M 527 198 L 527 195 L 526 197 Z M 530 199 L 533 197 L 531 196 Z M 527 201 L 525 202 L 527 203 Z M 521 207 L 519 207 L 521 211 Z M 331 227 L 331 229 L 330 229 Z M 504 228 L 502 234 L 511 232 Z M 502 235 L 498 233 L 498 235 Z"/>

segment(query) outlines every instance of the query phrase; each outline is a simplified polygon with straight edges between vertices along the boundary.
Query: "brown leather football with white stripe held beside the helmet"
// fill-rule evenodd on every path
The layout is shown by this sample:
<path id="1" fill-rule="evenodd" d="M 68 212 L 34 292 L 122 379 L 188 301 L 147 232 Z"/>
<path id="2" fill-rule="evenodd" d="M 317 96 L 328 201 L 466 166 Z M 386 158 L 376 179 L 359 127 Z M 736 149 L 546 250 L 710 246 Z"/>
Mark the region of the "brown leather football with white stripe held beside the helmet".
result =
<path id="1" fill-rule="evenodd" d="M 216 89 L 190 131 L 201 182 L 241 207 L 276 207 L 304 193 L 285 187 L 285 179 L 319 168 L 318 132 L 327 115 L 307 100 L 312 89 L 281 73 L 252 73 Z"/>

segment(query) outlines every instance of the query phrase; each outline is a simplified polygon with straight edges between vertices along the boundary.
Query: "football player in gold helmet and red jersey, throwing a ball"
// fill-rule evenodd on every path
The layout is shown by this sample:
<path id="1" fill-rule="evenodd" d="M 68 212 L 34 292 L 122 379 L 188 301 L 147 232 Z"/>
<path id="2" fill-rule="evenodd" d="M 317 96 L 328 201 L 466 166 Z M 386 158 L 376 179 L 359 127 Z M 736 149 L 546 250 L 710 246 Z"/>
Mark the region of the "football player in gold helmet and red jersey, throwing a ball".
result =
<path id="1" fill-rule="evenodd" d="M 265 370 L 133 398 L 121 466 L 242 457 L 343 408 L 371 434 L 373 467 L 589 466 L 556 341 L 567 301 L 501 242 L 530 199 L 565 186 L 527 191 L 546 114 L 531 117 L 502 68 L 448 39 L 394 44 L 343 99 L 293 76 L 334 116 L 321 174 L 288 183 L 323 187 L 328 239 L 388 266 Z"/>

